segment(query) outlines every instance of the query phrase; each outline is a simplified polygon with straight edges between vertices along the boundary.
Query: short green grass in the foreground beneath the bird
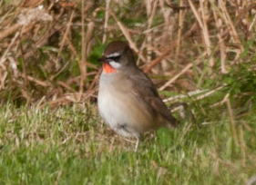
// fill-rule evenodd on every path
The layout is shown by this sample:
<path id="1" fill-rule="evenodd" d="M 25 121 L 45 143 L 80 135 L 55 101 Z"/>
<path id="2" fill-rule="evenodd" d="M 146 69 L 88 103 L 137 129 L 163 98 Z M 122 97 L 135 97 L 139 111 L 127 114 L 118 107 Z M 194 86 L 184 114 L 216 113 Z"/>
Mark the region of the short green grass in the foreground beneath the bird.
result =
<path id="1" fill-rule="evenodd" d="M 134 143 L 109 131 L 90 103 L 56 110 L 0 109 L 1 184 L 245 184 L 255 173 L 255 113 L 237 125 L 227 112 L 209 122 L 148 134 Z M 247 128 L 247 129 L 246 129 Z M 249 129 L 250 128 L 250 129 Z M 242 138 L 241 138 L 242 133 Z"/>

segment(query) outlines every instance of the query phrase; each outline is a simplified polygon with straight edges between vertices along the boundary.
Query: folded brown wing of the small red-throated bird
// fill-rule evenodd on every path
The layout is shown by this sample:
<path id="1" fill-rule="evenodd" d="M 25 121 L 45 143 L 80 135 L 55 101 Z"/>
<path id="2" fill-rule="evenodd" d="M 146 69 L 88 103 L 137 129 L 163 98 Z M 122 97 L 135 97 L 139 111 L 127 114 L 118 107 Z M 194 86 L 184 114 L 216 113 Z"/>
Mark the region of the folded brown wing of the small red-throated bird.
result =
<path id="1" fill-rule="evenodd" d="M 155 112 L 161 114 L 172 126 L 176 125 L 176 119 L 169 112 L 166 104 L 159 97 L 154 84 L 149 80 L 148 76 L 139 71 L 128 75 L 128 80 L 131 82 L 132 90 L 143 102 L 148 103 Z"/>

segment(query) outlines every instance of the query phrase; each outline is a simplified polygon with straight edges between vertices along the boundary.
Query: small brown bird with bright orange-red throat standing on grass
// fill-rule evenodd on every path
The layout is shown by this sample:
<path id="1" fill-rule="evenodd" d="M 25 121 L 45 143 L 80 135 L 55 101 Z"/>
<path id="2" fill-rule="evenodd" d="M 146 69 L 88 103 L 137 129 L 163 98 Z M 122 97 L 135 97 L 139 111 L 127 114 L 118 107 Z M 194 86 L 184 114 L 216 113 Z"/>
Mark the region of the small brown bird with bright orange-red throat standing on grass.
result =
<path id="1" fill-rule="evenodd" d="M 138 68 L 127 43 L 109 43 L 98 61 L 103 63 L 97 94 L 99 114 L 113 131 L 136 138 L 135 151 L 143 133 L 177 125 L 154 84 Z"/>

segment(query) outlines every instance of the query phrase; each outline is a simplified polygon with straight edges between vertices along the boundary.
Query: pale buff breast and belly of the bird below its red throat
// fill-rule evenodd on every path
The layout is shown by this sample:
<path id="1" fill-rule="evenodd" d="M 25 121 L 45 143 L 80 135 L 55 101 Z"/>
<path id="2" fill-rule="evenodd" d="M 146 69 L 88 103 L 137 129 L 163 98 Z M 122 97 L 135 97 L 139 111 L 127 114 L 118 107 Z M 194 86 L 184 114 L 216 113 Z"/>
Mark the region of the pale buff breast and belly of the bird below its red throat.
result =
<path id="1" fill-rule="evenodd" d="M 120 87 L 128 87 L 125 82 L 117 83 L 117 79 L 109 75 L 102 73 L 99 80 L 97 105 L 100 116 L 111 129 L 125 137 L 137 137 L 149 131 L 154 122 L 150 112 L 130 93 L 130 89 L 124 91 Z"/>

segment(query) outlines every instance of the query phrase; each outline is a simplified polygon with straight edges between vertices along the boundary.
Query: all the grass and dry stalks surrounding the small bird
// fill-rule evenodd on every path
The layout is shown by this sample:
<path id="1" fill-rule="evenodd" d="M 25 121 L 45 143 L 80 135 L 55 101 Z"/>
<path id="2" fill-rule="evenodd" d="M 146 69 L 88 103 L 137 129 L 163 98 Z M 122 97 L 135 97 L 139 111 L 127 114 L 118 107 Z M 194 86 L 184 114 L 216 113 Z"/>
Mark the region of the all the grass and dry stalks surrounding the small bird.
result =
<path id="1" fill-rule="evenodd" d="M 253 2 L 155 2 L 0 1 L 0 184 L 241 185 L 256 174 Z M 37 4 L 53 19 L 19 24 L 21 10 Z M 146 134 L 134 152 L 92 103 L 96 61 L 117 39 L 136 46 L 143 70 L 159 61 L 151 78 L 177 77 L 163 96 L 222 88 L 186 96 L 179 128 Z"/>

